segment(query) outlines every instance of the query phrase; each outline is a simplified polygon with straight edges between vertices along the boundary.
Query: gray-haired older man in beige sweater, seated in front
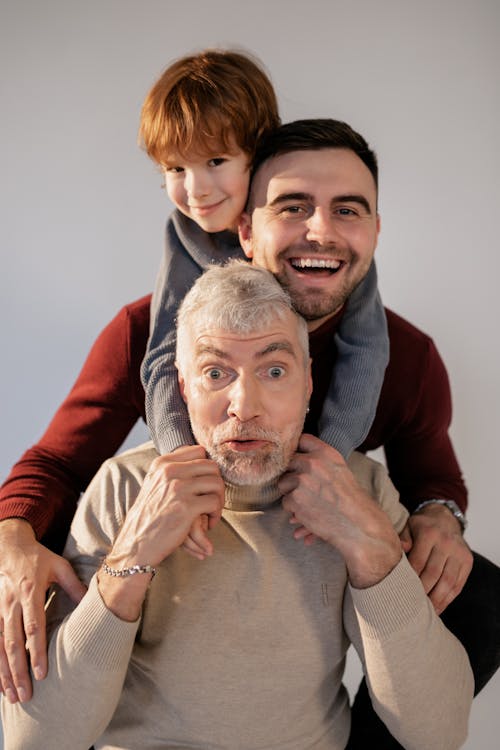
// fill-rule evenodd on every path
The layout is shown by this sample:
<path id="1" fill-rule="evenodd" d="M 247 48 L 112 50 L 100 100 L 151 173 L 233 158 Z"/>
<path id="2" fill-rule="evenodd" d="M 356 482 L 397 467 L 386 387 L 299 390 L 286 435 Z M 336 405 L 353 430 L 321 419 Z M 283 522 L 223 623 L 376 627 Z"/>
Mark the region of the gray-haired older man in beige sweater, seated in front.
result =
<path id="1" fill-rule="evenodd" d="M 188 293 L 177 362 L 200 444 L 141 446 L 90 485 L 66 547 L 88 593 L 58 595 L 48 677 L 3 702 L 6 750 L 340 750 L 350 643 L 405 747 L 460 746 L 467 656 L 402 555 L 385 469 L 301 437 L 307 347 L 263 269 L 214 267 Z M 325 450 L 335 492 L 295 493 L 301 451 Z"/>

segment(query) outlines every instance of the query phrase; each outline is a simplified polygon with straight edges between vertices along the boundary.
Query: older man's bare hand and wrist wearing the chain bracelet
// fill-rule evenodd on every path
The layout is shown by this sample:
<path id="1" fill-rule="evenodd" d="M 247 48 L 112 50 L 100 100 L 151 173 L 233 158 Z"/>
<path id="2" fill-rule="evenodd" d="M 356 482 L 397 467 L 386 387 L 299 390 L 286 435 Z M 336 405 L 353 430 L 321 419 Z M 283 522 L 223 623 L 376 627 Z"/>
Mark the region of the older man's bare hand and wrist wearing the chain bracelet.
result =
<path id="1" fill-rule="evenodd" d="M 224 482 L 217 464 L 206 458 L 204 448 L 184 446 L 160 456 L 151 464 L 137 500 L 125 517 L 107 556 L 108 564 L 114 568 L 146 563 L 156 566 L 185 544 L 190 533 L 194 533 L 196 543 L 200 517 L 207 517 L 208 530 L 220 520 L 223 507 Z M 206 536 L 203 526 L 202 521 L 201 534 Z M 149 579 L 142 575 L 121 578 L 105 574 L 98 578 L 108 609 L 121 619 L 135 621 Z"/>

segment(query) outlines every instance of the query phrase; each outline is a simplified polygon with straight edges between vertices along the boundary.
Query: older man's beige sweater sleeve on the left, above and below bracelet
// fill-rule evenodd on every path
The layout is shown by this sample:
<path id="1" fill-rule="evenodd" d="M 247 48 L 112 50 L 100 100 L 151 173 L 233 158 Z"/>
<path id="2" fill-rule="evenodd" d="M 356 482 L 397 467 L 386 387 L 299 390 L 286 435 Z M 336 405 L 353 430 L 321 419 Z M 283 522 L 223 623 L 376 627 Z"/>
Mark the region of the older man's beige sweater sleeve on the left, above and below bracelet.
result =
<path id="1" fill-rule="evenodd" d="M 82 498 L 65 555 L 89 589 L 76 607 L 63 592 L 56 595 L 48 616 L 53 630 L 47 677 L 33 683 L 31 701 L 2 701 L 5 750 L 74 750 L 75 738 L 86 750 L 113 716 L 139 621 L 124 622 L 106 608 L 95 571 L 122 518 L 115 498 L 127 492 L 105 464 Z"/>

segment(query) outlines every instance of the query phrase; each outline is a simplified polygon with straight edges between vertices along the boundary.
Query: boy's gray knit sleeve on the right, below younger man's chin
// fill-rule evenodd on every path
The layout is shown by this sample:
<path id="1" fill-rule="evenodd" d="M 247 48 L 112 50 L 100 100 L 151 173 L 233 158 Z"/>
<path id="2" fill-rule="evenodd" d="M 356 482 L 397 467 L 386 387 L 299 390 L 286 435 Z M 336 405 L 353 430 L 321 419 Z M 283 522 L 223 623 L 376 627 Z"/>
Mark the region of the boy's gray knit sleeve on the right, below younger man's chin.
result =
<path id="1" fill-rule="evenodd" d="M 350 296 L 338 332 L 337 360 L 319 420 L 319 437 L 348 458 L 368 434 L 389 361 L 389 336 L 372 262 Z"/>

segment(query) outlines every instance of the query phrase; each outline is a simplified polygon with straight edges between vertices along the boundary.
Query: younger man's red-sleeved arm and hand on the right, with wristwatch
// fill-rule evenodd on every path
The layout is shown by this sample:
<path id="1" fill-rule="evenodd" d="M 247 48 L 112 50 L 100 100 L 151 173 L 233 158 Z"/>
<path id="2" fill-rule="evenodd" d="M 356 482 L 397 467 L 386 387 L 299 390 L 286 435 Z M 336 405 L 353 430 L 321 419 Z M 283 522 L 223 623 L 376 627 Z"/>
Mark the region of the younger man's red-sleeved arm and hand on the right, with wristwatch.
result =
<path id="1" fill-rule="evenodd" d="M 454 500 L 465 510 L 467 491 L 449 436 L 452 403 L 443 361 L 428 336 L 390 311 L 388 321 L 391 361 L 374 431 L 377 442 L 385 441 L 391 479 L 410 511 L 431 498 Z M 448 508 L 429 505 L 411 516 L 404 538 L 412 566 L 442 612 L 472 566 L 459 523 Z"/>

